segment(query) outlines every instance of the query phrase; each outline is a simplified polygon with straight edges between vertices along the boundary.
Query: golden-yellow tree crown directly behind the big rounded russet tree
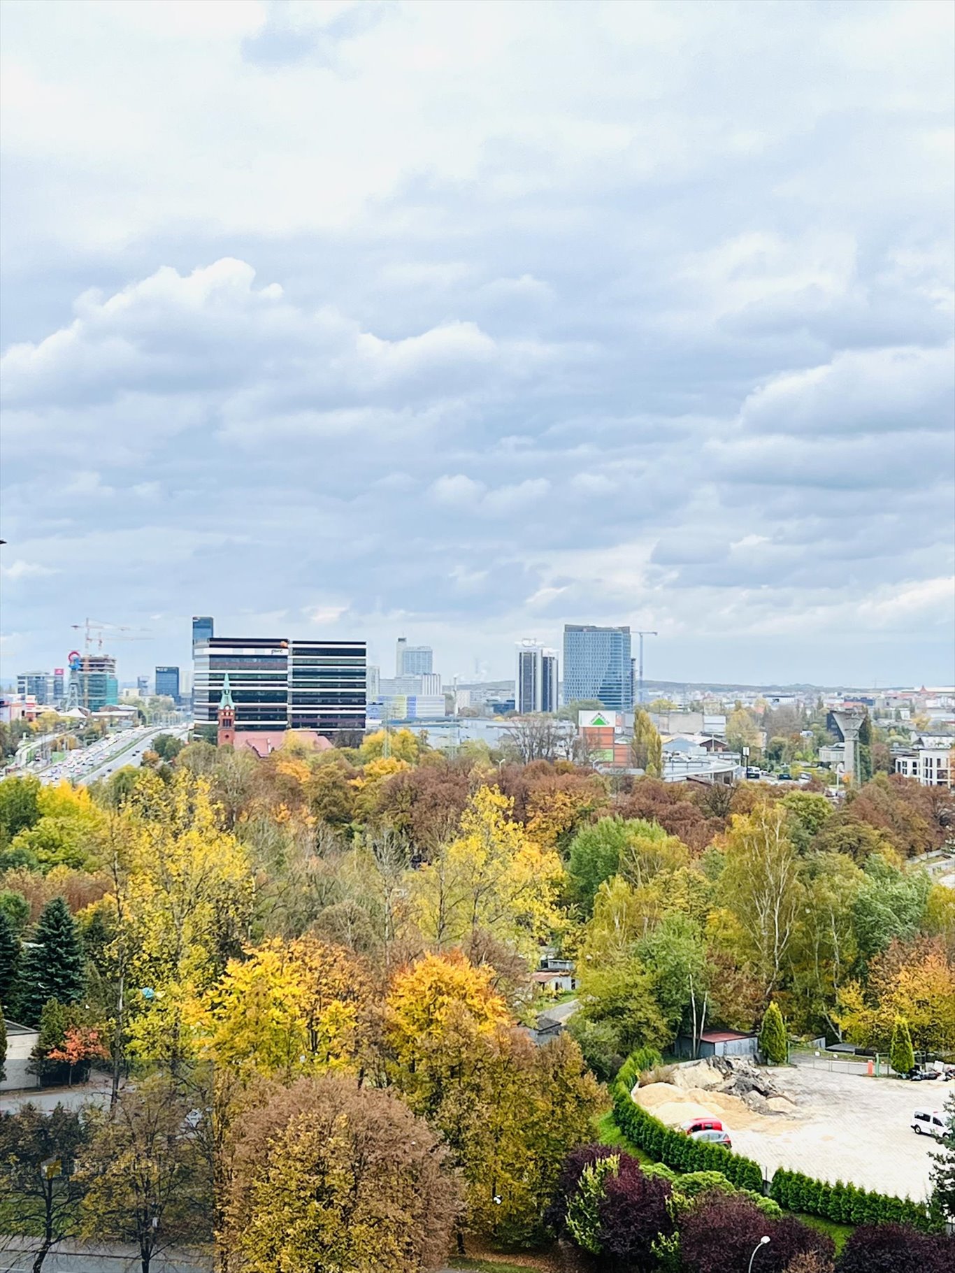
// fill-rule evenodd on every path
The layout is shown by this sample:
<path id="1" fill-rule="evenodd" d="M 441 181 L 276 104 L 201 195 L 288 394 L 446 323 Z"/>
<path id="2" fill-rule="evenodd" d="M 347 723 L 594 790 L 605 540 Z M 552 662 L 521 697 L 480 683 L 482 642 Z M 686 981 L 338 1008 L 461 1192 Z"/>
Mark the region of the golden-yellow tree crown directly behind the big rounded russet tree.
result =
<path id="1" fill-rule="evenodd" d="M 306 936 L 274 938 L 229 960 L 190 1020 L 216 1064 L 285 1081 L 348 1069 L 360 1046 L 371 984 L 359 960 Z"/>

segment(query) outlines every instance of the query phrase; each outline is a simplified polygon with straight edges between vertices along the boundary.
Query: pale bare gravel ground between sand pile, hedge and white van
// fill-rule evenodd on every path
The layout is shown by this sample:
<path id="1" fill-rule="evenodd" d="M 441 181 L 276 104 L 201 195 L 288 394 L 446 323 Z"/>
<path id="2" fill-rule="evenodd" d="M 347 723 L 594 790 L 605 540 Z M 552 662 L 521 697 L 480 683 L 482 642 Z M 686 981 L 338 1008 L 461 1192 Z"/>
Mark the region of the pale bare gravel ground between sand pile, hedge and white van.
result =
<path id="1" fill-rule="evenodd" d="M 773 1082 L 797 1102 L 798 1118 L 773 1119 L 760 1130 L 731 1128 L 733 1148 L 755 1158 L 767 1176 L 788 1167 L 902 1198 L 928 1194 L 937 1146 L 916 1136 L 909 1123 L 918 1106 L 941 1109 L 951 1083 L 907 1083 L 800 1066 L 773 1071 Z"/>

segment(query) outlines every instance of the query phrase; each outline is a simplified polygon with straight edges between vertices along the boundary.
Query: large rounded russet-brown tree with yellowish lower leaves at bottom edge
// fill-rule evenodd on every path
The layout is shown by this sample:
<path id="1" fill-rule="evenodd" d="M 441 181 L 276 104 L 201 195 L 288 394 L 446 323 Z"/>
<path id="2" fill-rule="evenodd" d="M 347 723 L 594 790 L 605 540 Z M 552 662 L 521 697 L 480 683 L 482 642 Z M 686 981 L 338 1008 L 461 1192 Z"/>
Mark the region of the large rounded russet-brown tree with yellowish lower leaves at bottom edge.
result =
<path id="1" fill-rule="evenodd" d="M 457 1209 L 423 1119 L 385 1091 L 299 1078 L 242 1120 L 224 1245 L 257 1273 L 424 1273 Z"/>

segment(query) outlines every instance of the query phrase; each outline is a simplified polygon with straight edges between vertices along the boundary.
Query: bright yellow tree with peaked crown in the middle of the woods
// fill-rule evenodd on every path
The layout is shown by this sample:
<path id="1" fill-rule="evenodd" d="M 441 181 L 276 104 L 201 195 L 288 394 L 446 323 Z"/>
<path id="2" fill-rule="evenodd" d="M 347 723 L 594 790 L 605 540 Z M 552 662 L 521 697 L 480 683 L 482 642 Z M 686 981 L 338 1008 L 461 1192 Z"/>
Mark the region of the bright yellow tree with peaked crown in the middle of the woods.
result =
<path id="1" fill-rule="evenodd" d="M 411 880 L 415 918 L 427 942 L 474 947 L 481 933 L 532 957 L 563 925 L 560 858 L 511 820 L 513 802 L 479 787 L 461 816 L 461 834 Z"/>

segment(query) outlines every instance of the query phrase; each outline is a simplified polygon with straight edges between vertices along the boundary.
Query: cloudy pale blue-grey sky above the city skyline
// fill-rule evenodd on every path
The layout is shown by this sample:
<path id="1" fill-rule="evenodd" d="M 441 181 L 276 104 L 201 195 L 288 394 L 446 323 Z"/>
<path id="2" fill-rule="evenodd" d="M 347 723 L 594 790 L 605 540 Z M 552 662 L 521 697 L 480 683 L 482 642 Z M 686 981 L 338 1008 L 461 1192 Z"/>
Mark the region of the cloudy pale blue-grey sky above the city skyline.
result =
<path id="1" fill-rule="evenodd" d="M 0 675 L 951 684 L 954 22 L 4 0 Z"/>

